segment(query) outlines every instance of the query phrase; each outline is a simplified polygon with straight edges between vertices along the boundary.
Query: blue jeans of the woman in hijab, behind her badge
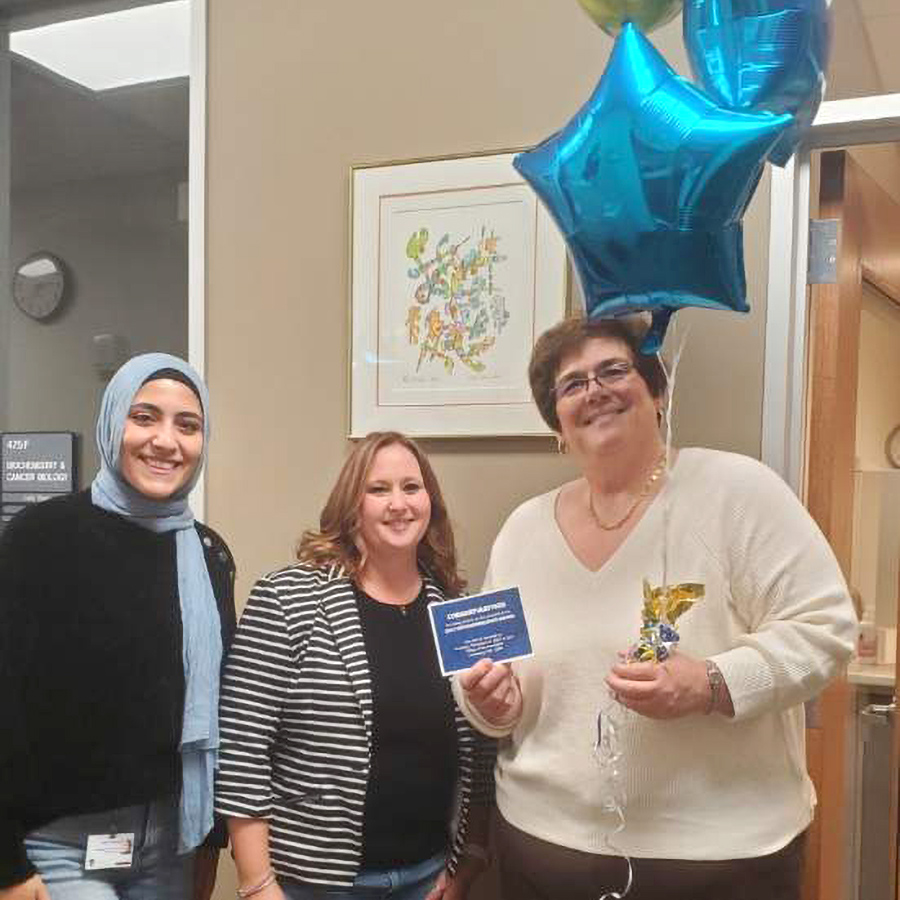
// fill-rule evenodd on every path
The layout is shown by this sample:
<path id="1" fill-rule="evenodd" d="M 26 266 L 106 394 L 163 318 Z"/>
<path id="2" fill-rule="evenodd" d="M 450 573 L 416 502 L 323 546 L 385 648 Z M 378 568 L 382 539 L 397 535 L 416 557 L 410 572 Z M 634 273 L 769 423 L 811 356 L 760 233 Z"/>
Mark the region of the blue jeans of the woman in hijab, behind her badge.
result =
<path id="1" fill-rule="evenodd" d="M 84 868 L 90 834 L 134 833 L 129 869 Z M 194 854 L 179 856 L 177 801 L 67 816 L 25 839 L 51 900 L 191 900 Z"/>

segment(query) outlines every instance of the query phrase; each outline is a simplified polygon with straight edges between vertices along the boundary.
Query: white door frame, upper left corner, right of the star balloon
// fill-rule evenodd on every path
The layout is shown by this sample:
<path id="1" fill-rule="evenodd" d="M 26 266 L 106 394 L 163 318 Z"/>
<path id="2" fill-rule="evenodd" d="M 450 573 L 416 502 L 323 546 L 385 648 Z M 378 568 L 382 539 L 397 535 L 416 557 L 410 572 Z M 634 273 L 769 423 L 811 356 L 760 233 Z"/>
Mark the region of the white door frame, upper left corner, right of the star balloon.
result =
<path id="1" fill-rule="evenodd" d="M 772 169 L 762 461 L 803 495 L 806 445 L 810 155 L 900 141 L 900 93 L 823 103 L 783 168 Z"/>

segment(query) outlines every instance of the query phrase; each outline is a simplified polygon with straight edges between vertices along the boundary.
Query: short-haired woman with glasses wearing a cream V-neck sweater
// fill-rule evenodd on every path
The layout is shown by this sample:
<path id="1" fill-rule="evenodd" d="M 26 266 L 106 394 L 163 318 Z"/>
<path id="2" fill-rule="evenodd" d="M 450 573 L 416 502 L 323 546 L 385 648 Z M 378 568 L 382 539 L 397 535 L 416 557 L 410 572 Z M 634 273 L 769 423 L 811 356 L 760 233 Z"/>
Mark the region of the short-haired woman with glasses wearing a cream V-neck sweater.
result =
<path id="1" fill-rule="evenodd" d="M 582 477 L 515 510 L 491 553 L 485 587 L 520 587 L 534 657 L 482 661 L 456 686 L 473 724 L 505 738 L 504 897 L 622 890 L 594 750 L 612 693 L 632 711 L 618 717 L 614 839 L 634 863 L 629 900 L 797 900 L 815 804 L 803 703 L 850 656 L 853 607 L 825 538 L 769 469 L 703 449 L 665 465 L 665 373 L 639 343 L 620 322 L 570 319 L 532 357 L 535 401 Z M 664 565 L 667 583 L 705 596 L 664 663 L 625 663 L 642 580 L 660 585 Z"/>

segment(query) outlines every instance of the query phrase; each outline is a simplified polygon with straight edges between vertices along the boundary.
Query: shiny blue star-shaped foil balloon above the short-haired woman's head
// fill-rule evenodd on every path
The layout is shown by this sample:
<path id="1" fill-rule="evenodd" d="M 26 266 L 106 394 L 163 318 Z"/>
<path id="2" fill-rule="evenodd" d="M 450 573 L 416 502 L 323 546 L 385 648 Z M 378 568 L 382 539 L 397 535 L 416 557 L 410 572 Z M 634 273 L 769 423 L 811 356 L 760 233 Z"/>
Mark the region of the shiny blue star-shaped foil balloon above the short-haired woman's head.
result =
<path id="1" fill-rule="evenodd" d="M 587 103 L 515 167 L 565 237 L 592 317 L 748 309 L 741 218 L 790 116 L 718 108 L 631 24 Z"/>

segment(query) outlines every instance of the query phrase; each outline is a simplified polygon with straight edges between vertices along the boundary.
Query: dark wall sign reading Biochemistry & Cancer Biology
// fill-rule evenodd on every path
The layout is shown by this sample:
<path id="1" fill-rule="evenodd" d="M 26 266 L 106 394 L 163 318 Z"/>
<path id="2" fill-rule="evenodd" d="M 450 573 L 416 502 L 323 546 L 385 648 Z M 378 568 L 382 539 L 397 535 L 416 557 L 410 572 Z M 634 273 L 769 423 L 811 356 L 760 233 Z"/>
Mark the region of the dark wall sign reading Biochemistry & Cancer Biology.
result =
<path id="1" fill-rule="evenodd" d="M 0 434 L 0 527 L 20 509 L 78 489 L 71 431 Z"/>

